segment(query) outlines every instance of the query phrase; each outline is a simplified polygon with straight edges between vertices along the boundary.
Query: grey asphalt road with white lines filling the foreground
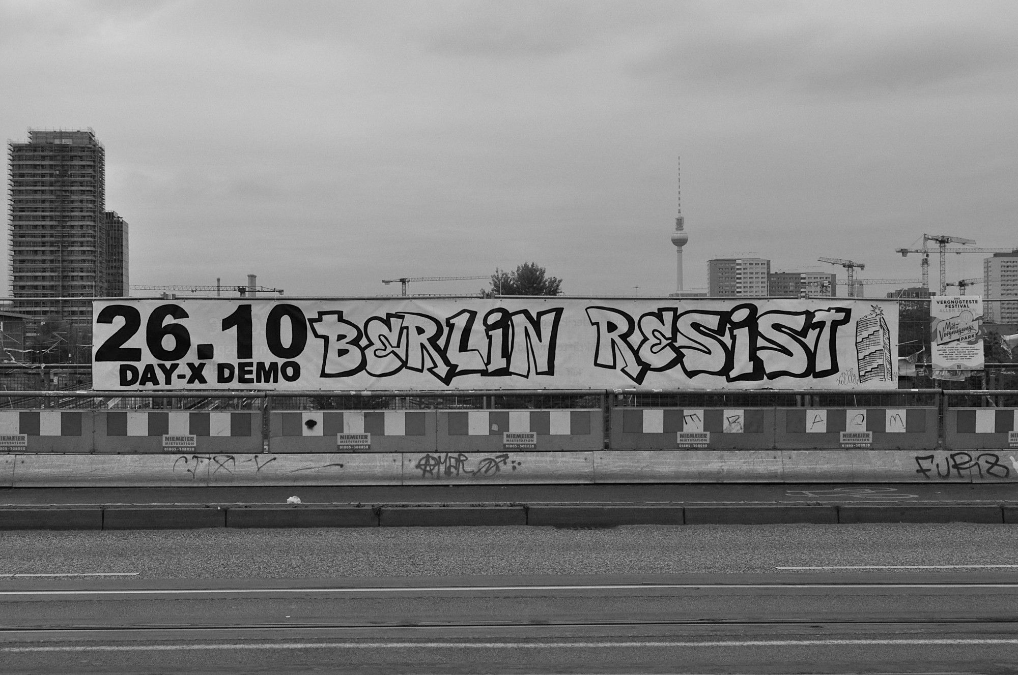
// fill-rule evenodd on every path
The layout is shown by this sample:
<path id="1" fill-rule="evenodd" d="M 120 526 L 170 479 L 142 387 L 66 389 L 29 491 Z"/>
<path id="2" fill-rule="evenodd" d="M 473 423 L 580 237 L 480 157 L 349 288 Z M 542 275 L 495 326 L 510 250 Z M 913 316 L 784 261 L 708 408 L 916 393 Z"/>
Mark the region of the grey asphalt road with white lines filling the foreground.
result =
<path id="1" fill-rule="evenodd" d="M 0 672 L 1014 673 L 1013 532 L 0 533 Z"/>

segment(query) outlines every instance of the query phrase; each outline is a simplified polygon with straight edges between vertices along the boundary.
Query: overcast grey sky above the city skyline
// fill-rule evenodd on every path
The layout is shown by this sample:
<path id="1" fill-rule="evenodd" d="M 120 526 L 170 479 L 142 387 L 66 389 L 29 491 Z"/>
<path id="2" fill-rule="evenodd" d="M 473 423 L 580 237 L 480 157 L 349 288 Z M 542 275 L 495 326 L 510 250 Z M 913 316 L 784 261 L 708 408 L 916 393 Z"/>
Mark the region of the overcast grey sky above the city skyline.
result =
<path id="1" fill-rule="evenodd" d="M 918 278 L 923 233 L 1018 246 L 1016 103 L 1011 0 L 0 0 L 0 130 L 95 129 L 132 284 L 663 295 L 679 156 L 687 290 Z"/>

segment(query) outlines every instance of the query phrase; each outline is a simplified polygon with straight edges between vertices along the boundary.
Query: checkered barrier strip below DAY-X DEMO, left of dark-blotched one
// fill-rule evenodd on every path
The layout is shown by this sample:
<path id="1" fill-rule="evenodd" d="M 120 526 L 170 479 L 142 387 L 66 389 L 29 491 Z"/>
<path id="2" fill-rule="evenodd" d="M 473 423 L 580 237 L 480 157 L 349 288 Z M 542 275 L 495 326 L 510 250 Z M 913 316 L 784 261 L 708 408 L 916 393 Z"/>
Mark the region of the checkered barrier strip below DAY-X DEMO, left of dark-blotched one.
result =
<path id="1" fill-rule="evenodd" d="M 258 413 L 106 413 L 107 436 L 261 436 Z"/>

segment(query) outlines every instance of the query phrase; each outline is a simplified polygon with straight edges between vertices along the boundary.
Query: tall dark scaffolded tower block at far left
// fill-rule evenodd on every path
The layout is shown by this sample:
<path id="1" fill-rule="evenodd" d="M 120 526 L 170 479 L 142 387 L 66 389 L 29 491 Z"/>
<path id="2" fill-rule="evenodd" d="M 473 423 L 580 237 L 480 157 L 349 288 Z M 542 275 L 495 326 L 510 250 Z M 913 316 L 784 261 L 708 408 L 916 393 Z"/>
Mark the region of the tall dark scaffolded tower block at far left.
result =
<path id="1" fill-rule="evenodd" d="M 8 151 L 12 309 L 91 325 L 91 302 L 55 299 L 126 295 L 127 224 L 106 211 L 106 150 L 91 129 L 30 129 Z"/>

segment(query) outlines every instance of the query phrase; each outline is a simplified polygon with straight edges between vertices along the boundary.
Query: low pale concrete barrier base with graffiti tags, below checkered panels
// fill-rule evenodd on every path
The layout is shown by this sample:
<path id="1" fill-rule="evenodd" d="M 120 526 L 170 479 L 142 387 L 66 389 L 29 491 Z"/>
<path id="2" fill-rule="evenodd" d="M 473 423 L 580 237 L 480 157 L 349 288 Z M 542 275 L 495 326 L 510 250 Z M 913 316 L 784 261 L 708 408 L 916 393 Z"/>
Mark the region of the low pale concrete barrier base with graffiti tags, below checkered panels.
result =
<path id="1" fill-rule="evenodd" d="M 992 455 L 992 456 L 991 456 Z M 299 454 L 9 454 L 13 487 L 561 483 L 1016 483 L 993 452 L 599 450 Z"/>

